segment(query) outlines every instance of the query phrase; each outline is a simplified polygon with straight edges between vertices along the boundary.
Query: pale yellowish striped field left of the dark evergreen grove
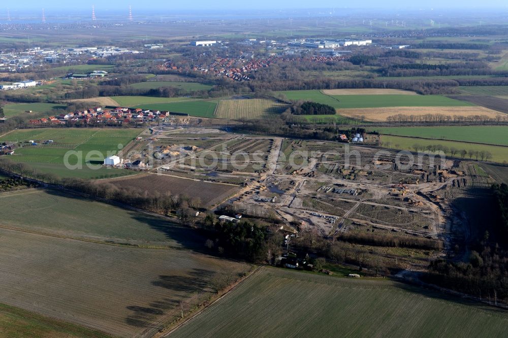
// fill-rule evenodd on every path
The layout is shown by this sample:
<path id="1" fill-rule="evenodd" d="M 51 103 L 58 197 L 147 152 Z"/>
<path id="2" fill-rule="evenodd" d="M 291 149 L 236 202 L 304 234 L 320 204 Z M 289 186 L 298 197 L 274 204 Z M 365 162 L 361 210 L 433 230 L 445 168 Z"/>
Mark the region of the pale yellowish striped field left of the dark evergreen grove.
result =
<path id="1" fill-rule="evenodd" d="M 288 105 L 266 98 L 220 100 L 215 117 L 221 119 L 253 119 L 280 114 Z"/>

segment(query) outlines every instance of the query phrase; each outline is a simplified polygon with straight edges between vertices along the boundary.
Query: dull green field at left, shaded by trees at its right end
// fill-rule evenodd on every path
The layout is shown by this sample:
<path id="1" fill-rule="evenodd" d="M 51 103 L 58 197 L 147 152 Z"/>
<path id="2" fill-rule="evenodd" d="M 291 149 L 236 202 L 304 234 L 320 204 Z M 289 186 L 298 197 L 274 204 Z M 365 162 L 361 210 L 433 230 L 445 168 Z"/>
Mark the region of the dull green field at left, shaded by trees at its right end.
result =
<path id="1" fill-rule="evenodd" d="M 0 205 L 2 226 L 66 238 L 182 248 L 180 240 L 192 236 L 192 230 L 168 219 L 56 190 L 29 189 L 2 194 Z M 106 219 L 108 225 L 104 226 L 102 221 Z M 169 232 L 174 237 L 168 236 Z"/>

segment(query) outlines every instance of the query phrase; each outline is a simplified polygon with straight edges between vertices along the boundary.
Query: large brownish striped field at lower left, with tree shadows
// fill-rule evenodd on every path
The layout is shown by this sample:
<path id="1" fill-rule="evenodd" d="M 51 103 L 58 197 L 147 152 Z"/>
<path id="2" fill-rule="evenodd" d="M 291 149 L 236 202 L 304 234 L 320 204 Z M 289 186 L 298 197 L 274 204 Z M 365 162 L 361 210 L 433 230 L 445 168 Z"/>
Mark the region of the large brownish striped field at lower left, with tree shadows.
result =
<path id="1" fill-rule="evenodd" d="M 134 337 L 152 336 L 248 265 L 188 250 L 133 249 L 0 229 L 0 302 Z"/>

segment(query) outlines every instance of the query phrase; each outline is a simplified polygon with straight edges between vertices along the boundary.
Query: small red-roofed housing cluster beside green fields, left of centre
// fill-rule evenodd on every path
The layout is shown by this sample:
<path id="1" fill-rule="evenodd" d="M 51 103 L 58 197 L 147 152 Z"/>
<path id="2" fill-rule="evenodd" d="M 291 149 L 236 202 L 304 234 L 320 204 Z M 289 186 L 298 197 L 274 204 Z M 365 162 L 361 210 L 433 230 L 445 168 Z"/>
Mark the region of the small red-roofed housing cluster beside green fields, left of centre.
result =
<path id="1" fill-rule="evenodd" d="M 143 109 L 130 109 L 130 108 L 115 108 L 115 109 L 102 109 L 101 107 L 94 107 L 83 111 L 70 112 L 60 114 L 58 116 L 51 116 L 48 118 L 41 118 L 36 120 L 29 120 L 30 124 L 68 124 L 68 123 L 116 123 L 116 124 L 142 124 L 147 122 L 166 121 L 170 115 L 169 112 L 151 111 Z"/>

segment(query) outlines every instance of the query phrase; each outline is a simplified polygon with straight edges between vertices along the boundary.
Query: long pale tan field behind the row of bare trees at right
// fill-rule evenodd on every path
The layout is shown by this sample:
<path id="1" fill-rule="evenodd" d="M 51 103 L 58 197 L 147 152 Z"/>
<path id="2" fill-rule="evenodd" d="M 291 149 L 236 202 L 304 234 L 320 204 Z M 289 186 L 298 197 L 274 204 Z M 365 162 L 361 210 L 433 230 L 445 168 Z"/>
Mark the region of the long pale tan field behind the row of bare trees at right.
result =
<path id="1" fill-rule="evenodd" d="M 494 110 L 484 107 L 392 107 L 392 108 L 362 108 L 362 109 L 338 109 L 337 112 L 354 119 L 364 118 L 372 122 L 385 122 L 388 117 L 394 115 L 424 116 L 428 114 L 441 114 L 445 116 L 488 116 L 495 118 L 502 115 Z"/>

